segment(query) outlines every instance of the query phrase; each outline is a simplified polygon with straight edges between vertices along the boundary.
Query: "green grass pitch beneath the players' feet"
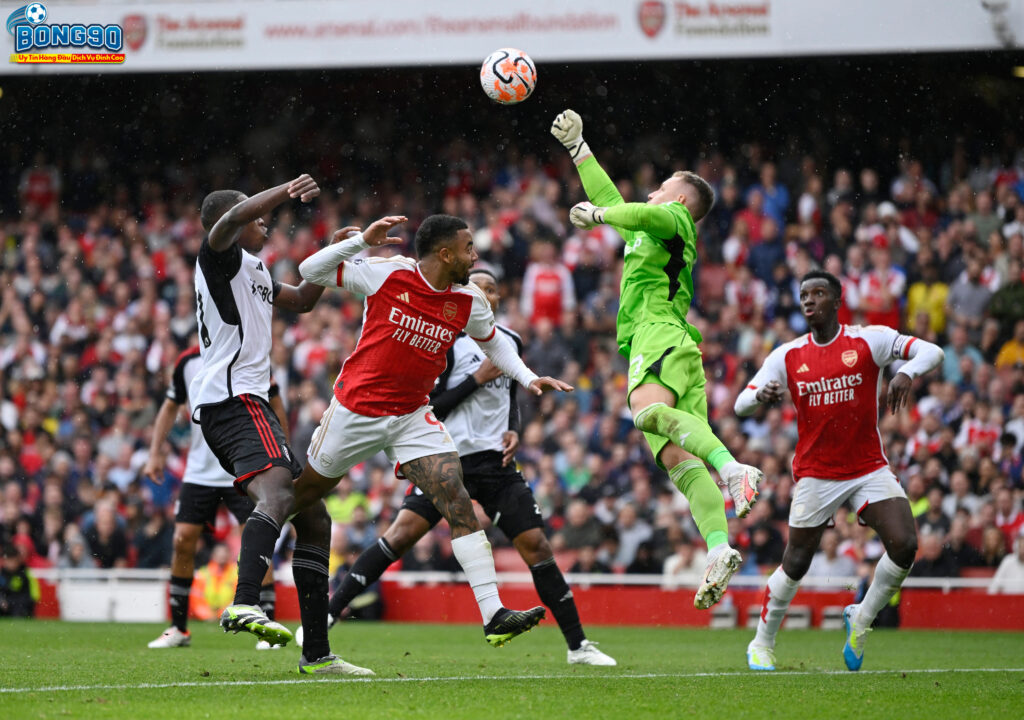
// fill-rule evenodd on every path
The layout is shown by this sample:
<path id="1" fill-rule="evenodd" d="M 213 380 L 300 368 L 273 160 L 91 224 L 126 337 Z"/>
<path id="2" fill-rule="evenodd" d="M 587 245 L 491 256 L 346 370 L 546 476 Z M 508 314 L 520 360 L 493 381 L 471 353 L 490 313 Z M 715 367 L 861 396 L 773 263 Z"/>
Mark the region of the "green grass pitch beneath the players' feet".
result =
<path id="1" fill-rule="evenodd" d="M 479 627 L 353 623 L 336 652 L 370 679 L 300 678 L 298 650 L 193 625 L 193 646 L 151 650 L 156 625 L 0 622 L 4 718 L 1017 718 L 1024 635 L 876 631 L 849 673 L 842 632 L 786 631 L 778 670 L 752 673 L 751 632 L 591 628 L 616 668 L 569 666 L 549 621 L 507 647 Z"/>

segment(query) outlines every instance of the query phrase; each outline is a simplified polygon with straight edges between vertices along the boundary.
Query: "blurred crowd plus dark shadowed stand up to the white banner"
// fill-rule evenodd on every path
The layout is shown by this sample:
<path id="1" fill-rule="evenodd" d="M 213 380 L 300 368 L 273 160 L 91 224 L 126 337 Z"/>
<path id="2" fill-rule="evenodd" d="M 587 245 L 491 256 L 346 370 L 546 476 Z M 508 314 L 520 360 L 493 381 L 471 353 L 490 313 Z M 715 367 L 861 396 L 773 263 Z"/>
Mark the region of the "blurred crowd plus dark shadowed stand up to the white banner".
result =
<path id="1" fill-rule="evenodd" d="M 464 217 L 481 263 L 501 278 L 499 322 L 522 336 L 531 368 L 577 387 L 539 400 L 520 393 L 517 460 L 565 569 L 693 582 L 699 536 L 626 405 L 614 345 L 621 239 L 567 220 L 585 198 L 547 134 L 566 104 L 584 116 L 627 201 L 644 201 L 683 168 L 718 194 L 698 225 L 690 321 L 705 337 L 711 421 L 766 476 L 751 515 L 730 513 L 744 571 L 781 558 L 796 424 L 788 404 L 740 419 L 733 400 L 771 349 L 806 332 L 798 281 L 815 267 L 843 281 L 842 322 L 887 325 L 945 349 L 942 368 L 915 381 L 909 408 L 881 419 L 919 520 L 913 575 L 990 575 L 1005 557 L 1021 565 L 1024 144 L 1002 86 L 957 95 L 938 65 L 921 60 L 902 104 L 894 98 L 903 86 L 884 88 L 885 103 L 870 93 L 854 103 L 807 89 L 826 87 L 817 81 L 829 73 L 863 71 L 849 63 L 809 63 L 802 75 L 785 65 L 697 66 L 703 82 L 685 91 L 669 63 L 577 71 L 516 109 L 475 94 L 468 107 L 443 99 L 464 91 L 451 71 L 432 92 L 411 71 L 370 88 L 357 72 L 163 78 L 159 92 L 144 80 L 121 79 L 116 92 L 100 79 L 55 81 L 52 101 L 81 102 L 88 131 L 41 127 L 7 143 L 0 167 L 0 544 L 17 550 L 5 552 L 11 566 L 169 564 L 184 416 L 162 482 L 140 470 L 175 358 L 196 342 L 200 203 L 212 189 L 251 194 L 309 172 L 323 195 L 269 219 L 263 259 L 274 278 L 296 283 L 298 263 L 346 224 L 409 215 L 397 252 L 412 255 L 423 217 Z M 742 91 L 720 96 L 727 82 Z M 678 90 L 676 103 L 654 99 L 667 88 Z M 442 99 L 425 114 L 410 91 Z M 42 100 L 22 101 L 15 111 L 27 113 Z M 830 112 L 817 115 L 819 103 Z M 200 105 L 217 110 L 200 119 Z M 808 113 L 820 123 L 802 120 Z M 297 452 L 354 347 L 361 305 L 329 291 L 308 314 L 275 311 L 271 363 Z M 339 484 L 328 499 L 335 565 L 375 541 L 404 491 L 383 457 Z M 198 564 L 237 535 L 222 514 Z M 493 542 L 508 545 L 497 532 Z M 812 575 L 865 573 L 881 552 L 841 512 Z M 278 561 L 287 560 L 286 540 Z M 453 563 L 441 527 L 403 566 Z"/>

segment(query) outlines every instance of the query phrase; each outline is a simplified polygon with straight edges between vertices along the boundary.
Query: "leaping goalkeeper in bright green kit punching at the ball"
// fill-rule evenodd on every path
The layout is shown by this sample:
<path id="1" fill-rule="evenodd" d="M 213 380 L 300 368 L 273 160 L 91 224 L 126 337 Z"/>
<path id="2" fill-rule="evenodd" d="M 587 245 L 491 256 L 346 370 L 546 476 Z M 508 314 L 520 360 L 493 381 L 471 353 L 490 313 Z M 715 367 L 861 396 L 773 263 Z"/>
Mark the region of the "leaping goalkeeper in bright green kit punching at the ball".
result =
<path id="1" fill-rule="evenodd" d="M 708 543 L 708 565 L 693 604 L 722 599 L 739 553 L 729 547 L 722 493 L 705 463 L 726 481 L 736 514 L 758 498 L 761 471 L 736 462 L 708 424 L 700 333 L 686 322 L 693 297 L 694 222 L 711 210 L 715 193 L 692 172 L 677 172 L 647 196 L 626 203 L 583 139 L 583 120 L 571 110 L 555 118 L 551 134 L 572 156 L 589 203 L 569 212 L 572 224 L 608 224 L 626 241 L 618 317 L 618 351 L 629 358 L 628 399 L 658 465 L 686 496 Z"/>

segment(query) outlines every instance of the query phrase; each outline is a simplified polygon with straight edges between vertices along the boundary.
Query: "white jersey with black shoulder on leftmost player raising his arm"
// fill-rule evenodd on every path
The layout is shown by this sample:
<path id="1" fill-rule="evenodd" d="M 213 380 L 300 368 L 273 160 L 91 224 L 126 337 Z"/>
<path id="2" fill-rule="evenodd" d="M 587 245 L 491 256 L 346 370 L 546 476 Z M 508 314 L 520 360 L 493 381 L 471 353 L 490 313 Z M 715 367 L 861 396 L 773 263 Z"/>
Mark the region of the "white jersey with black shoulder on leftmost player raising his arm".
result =
<path id="1" fill-rule="evenodd" d="M 263 262 L 232 243 L 218 253 L 204 240 L 196 263 L 196 316 L 203 368 L 189 386 L 193 420 L 204 406 L 242 394 L 267 399 L 270 320 L 281 290 Z"/>

